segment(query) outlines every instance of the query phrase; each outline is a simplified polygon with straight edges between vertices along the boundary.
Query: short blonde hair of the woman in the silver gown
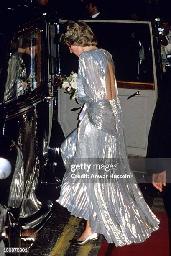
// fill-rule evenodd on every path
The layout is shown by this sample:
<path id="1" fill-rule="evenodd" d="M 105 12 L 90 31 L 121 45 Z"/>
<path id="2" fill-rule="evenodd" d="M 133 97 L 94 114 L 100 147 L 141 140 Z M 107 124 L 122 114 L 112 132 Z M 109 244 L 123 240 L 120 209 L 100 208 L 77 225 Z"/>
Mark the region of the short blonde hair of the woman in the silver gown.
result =
<path id="1" fill-rule="evenodd" d="M 60 37 L 60 42 L 75 46 L 96 46 L 97 38 L 92 29 L 83 20 L 69 20 L 65 32 Z"/>

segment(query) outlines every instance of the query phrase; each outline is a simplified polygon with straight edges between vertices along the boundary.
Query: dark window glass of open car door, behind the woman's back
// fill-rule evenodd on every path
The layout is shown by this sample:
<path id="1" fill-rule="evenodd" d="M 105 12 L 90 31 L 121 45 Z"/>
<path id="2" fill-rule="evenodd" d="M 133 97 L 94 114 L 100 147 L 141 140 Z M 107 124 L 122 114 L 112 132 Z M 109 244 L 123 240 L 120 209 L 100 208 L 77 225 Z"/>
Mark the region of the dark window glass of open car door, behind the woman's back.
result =
<path id="1" fill-rule="evenodd" d="M 90 22 L 89 25 L 97 36 L 98 47 L 112 54 L 117 80 L 153 82 L 148 24 Z"/>

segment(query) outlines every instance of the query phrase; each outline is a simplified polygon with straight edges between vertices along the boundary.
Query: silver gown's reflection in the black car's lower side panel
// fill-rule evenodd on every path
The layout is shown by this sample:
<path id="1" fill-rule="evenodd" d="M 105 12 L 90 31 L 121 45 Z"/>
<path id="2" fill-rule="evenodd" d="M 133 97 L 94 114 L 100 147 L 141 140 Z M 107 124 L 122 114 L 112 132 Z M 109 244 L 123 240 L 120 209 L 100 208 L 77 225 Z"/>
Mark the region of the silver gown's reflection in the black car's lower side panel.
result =
<path id="1" fill-rule="evenodd" d="M 18 119 L 20 125 L 18 145 L 23 152 L 24 192 L 20 218 L 26 218 L 41 209 L 41 202 L 36 197 L 40 164 L 38 159 L 38 112 L 36 109 L 23 114 Z M 26 150 L 27 148 L 27 150 Z"/>

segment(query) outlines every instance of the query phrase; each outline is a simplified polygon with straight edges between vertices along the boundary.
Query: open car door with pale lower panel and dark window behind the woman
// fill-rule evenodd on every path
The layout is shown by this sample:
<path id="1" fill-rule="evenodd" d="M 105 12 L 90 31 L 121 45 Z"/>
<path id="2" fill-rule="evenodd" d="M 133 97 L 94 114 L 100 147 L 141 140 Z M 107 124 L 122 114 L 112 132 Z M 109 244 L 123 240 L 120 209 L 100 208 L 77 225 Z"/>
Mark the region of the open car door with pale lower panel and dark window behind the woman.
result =
<path id="1" fill-rule="evenodd" d="M 114 60 L 128 154 L 145 156 L 157 100 L 158 53 L 155 52 L 153 24 L 148 21 L 85 21 L 97 36 L 97 47 L 109 51 Z M 65 22 L 59 21 L 59 33 L 62 33 Z M 77 72 L 78 58 L 69 53 L 67 46 L 59 48 L 61 76 Z M 77 127 L 77 113 L 71 109 L 78 107 L 74 100 L 69 100 L 68 94 L 64 94 L 64 90 L 59 90 L 58 118 L 65 136 Z"/>

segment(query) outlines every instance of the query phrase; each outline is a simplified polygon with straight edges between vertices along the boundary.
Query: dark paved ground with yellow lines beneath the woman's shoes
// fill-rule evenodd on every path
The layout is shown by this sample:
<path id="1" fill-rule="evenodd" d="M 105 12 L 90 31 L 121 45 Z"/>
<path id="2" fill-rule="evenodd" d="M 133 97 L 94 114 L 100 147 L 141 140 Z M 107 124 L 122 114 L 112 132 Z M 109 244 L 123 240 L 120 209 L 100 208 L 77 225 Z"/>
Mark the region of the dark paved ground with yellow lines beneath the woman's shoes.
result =
<path id="1" fill-rule="evenodd" d="M 153 211 L 164 212 L 163 202 L 160 198 L 148 197 L 146 202 Z M 103 241 L 101 236 L 97 246 L 88 243 L 85 246 L 72 246 L 69 239 L 78 237 L 84 230 L 84 221 L 76 218 L 56 204 L 51 218 L 41 230 L 38 238 L 29 251 L 28 256 L 97 256 Z M 110 256 L 114 244 L 108 246 L 106 256 Z"/>

